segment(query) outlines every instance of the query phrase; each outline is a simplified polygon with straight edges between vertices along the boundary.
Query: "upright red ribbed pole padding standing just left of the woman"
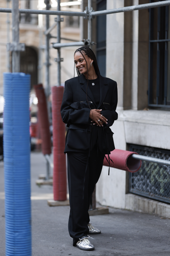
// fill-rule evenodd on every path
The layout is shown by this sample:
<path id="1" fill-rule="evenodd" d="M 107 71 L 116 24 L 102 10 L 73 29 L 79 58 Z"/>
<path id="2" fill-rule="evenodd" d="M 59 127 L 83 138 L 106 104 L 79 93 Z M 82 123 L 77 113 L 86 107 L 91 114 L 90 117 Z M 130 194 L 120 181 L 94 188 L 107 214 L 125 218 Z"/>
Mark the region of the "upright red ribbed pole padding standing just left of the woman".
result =
<path id="1" fill-rule="evenodd" d="M 63 86 L 52 87 L 52 114 L 53 114 L 53 193 L 55 201 L 67 199 L 66 189 L 66 159 L 65 148 L 65 124 L 61 118 L 61 104 L 64 93 Z"/>

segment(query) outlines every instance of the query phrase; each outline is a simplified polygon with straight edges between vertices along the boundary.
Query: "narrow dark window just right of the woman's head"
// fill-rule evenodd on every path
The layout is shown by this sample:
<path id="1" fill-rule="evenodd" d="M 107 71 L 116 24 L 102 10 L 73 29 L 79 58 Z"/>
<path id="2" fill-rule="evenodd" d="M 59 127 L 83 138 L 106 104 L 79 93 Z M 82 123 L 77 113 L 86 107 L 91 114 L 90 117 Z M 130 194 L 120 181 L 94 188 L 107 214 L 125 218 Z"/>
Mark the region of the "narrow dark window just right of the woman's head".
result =
<path id="1" fill-rule="evenodd" d="M 106 10 L 106 0 L 97 0 L 97 11 Z M 96 56 L 101 76 L 106 76 L 106 15 L 97 16 Z"/>

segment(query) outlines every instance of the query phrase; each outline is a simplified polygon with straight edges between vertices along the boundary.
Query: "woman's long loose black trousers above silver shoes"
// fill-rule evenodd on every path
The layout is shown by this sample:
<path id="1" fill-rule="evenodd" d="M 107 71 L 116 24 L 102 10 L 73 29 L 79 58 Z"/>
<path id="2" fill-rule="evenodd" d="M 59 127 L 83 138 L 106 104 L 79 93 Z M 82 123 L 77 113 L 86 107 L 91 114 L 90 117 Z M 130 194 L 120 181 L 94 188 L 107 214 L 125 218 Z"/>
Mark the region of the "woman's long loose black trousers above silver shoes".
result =
<path id="1" fill-rule="evenodd" d="M 105 154 L 95 146 L 89 152 L 67 152 L 70 216 L 69 234 L 73 246 L 88 234 L 90 198 L 100 177 Z"/>

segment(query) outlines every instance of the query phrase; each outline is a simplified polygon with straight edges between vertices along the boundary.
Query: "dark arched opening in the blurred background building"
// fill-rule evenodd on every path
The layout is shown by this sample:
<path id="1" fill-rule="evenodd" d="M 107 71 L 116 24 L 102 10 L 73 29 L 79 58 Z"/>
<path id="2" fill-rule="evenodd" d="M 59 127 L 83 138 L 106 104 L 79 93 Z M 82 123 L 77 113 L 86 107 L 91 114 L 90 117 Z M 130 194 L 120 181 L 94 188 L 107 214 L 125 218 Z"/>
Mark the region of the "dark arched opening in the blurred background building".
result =
<path id="1" fill-rule="evenodd" d="M 25 47 L 20 55 L 20 72 L 31 75 L 31 88 L 38 83 L 38 56 L 35 49 Z"/>

